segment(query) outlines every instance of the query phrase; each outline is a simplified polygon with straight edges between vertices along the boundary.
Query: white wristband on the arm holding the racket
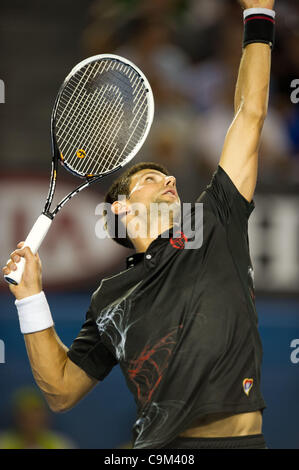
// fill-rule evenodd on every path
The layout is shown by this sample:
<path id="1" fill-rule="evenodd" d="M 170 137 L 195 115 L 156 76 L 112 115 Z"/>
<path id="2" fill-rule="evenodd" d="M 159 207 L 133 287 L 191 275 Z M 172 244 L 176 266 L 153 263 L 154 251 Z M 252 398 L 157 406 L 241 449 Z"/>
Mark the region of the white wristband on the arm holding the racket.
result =
<path id="1" fill-rule="evenodd" d="M 54 325 L 50 307 L 45 293 L 16 300 L 21 332 L 23 334 L 36 333 Z"/>

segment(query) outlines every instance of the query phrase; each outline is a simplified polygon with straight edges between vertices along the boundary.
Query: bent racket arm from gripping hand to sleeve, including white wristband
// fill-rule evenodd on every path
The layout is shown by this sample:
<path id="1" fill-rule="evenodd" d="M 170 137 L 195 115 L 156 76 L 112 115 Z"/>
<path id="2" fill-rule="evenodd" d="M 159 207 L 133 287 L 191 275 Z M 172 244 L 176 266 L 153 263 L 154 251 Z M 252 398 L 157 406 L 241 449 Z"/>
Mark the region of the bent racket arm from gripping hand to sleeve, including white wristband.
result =
<path id="1" fill-rule="evenodd" d="M 19 248 L 23 243 L 18 245 Z M 46 296 L 41 283 L 41 263 L 38 254 L 30 248 L 21 248 L 11 254 L 11 261 L 3 268 L 9 275 L 16 263 L 24 257 L 25 270 L 18 285 L 10 284 L 16 297 L 21 332 L 24 334 L 28 357 L 37 385 L 44 393 L 53 411 L 66 411 L 80 401 L 97 383 L 67 356 L 54 330 Z"/>

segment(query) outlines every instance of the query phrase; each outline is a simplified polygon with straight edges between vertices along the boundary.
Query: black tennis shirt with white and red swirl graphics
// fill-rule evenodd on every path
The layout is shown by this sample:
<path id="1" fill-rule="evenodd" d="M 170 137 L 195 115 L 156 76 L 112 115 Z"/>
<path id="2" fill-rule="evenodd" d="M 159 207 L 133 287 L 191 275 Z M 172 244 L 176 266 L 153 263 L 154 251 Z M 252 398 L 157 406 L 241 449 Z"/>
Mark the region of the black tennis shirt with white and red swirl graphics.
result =
<path id="1" fill-rule="evenodd" d="M 210 413 L 265 408 L 248 245 L 254 202 L 220 166 L 196 202 L 201 246 L 182 247 L 172 230 L 128 257 L 92 295 L 68 351 L 98 380 L 120 364 L 137 405 L 136 449 L 161 448 Z"/>

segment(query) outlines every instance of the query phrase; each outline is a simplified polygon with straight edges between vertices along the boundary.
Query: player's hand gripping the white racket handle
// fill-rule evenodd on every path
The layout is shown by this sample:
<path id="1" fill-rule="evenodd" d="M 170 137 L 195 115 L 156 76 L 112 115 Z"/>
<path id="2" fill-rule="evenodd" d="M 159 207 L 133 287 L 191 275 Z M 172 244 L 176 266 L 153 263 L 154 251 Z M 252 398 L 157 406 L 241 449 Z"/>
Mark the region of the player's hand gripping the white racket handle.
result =
<path id="1" fill-rule="evenodd" d="M 10 262 L 2 268 L 3 274 L 7 275 L 17 269 L 17 263 L 21 257 L 26 260 L 25 270 L 23 273 L 22 280 L 18 286 L 9 284 L 9 288 L 17 300 L 24 299 L 30 295 L 38 294 L 42 291 L 42 266 L 38 256 L 33 255 L 30 248 L 26 246 L 22 248 L 24 242 L 20 242 L 15 250 L 10 255 Z"/>

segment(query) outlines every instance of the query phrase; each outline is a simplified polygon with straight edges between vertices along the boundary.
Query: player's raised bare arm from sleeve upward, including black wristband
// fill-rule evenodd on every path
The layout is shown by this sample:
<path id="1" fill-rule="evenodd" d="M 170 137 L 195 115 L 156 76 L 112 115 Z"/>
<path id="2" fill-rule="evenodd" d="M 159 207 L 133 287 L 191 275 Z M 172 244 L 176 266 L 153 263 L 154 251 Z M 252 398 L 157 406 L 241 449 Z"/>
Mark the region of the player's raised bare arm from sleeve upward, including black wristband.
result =
<path id="1" fill-rule="evenodd" d="M 261 132 L 268 111 L 275 0 L 240 0 L 244 43 L 235 91 L 235 116 L 219 165 L 251 202 L 258 173 Z"/>

